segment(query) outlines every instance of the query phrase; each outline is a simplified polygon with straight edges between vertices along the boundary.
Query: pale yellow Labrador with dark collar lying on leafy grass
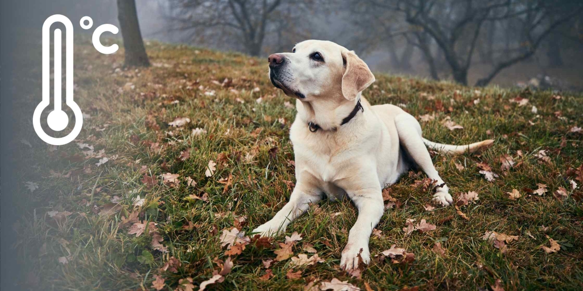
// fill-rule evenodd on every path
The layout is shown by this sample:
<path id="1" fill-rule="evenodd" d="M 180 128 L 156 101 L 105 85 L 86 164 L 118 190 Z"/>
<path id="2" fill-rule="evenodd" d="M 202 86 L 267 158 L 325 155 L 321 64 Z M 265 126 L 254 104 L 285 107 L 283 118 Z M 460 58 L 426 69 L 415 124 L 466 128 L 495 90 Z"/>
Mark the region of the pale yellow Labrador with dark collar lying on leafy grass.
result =
<path id="1" fill-rule="evenodd" d="M 394 105 L 370 105 L 362 91 L 375 77 L 354 51 L 331 41 L 307 40 L 291 52 L 272 54 L 269 79 L 296 98 L 290 140 L 296 161 L 296 187 L 270 221 L 253 232 L 273 236 L 324 196 L 349 197 L 358 209 L 342 251 L 346 271 L 370 262 L 368 240 L 384 212 L 382 189 L 412 166 L 437 181 L 434 201 L 453 203 L 448 186 L 433 166 L 427 147 L 455 154 L 488 147 L 493 140 L 448 145 L 423 139 L 419 122 Z"/>

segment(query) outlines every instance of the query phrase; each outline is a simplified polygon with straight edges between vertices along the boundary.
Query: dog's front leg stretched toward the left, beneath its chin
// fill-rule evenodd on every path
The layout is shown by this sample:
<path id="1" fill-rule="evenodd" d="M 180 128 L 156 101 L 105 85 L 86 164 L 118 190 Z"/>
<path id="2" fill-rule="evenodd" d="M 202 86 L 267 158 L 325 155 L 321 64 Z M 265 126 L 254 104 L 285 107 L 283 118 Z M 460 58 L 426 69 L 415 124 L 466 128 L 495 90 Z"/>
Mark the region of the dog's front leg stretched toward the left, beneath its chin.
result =
<path id="1" fill-rule="evenodd" d="M 290 201 L 270 221 L 260 225 L 253 232 L 261 233 L 261 236 L 278 235 L 285 231 L 291 221 L 304 214 L 310 208 L 310 203 L 318 203 L 320 200 L 322 194 L 318 189 L 298 181 L 291 192 Z"/>

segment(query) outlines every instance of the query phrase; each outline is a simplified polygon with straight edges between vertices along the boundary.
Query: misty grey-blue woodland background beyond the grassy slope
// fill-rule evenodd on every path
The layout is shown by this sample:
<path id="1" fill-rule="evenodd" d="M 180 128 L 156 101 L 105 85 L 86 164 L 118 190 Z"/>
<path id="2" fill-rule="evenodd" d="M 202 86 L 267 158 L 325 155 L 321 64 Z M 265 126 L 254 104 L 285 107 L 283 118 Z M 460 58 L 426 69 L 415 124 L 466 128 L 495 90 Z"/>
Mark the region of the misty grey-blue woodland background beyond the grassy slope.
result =
<path id="1" fill-rule="evenodd" d="M 119 27 L 115 0 L 57 2 L 41 5 L 66 7 L 73 23 L 89 15 Z M 582 1 L 137 0 L 136 8 L 145 41 L 265 57 L 313 38 L 353 49 L 373 72 L 583 89 Z"/>

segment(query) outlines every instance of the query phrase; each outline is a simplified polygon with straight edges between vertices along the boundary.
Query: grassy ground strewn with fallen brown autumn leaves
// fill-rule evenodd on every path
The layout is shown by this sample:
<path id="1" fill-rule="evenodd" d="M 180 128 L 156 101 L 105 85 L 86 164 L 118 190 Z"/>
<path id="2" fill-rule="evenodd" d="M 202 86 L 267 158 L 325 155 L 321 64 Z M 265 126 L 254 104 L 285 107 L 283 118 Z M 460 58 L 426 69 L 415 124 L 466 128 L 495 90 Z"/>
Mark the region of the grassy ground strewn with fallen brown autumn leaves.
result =
<path id="1" fill-rule="evenodd" d="M 14 246 L 17 263 L 24 268 L 23 288 L 153 290 L 153 276 L 161 275 L 164 290 L 174 290 L 184 278 L 192 278 L 197 290 L 213 270 L 220 270 L 216 258 L 227 258 L 226 249 L 220 247 L 222 230 L 233 228 L 235 220 L 244 217 L 238 225 L 249 232 L 268 221 L 289 198 L 286 181 L 295 179 L 288 131 L 295 109 L 284 102 L 294 101 L 269 83 L 265 60 L 155 42 L 146 49 L 152 68 L 123 69 L 122 51 L 101 55 L 90 45 L 76 47 L 75 99 L 90 117 L 75 142 L 47 147 L 34 135 L 30 122 L 24 126 L 22 138 L 31 147 L 15 144 L 15 159 L 26 166 L 17 169 L 22 201 L 15 207 L 22 217 L 13 227 L 19 242 Z M 33 61 L 30 66 L 40 64 Z M 40 72 L 36 67 L 31 70 Z M 583 184 L 573 176 L 583 164 L 583 143 L 581 133 L 570 129 L 583 126 L 583 95 L 499 87 L 479 88 L 478 93 L 447 81 L 376 77 L 374 86 L 364 91 L 371 104 L 404 104 L 414 116 L 435 114 L 434 120 L 422 122 L 427 139 L 452 144 L 496 140 L 481 154 L 434 155 L 452 196 L 467 191 L 479 194 L 476 203 L 461 207 L 469 220 L 454 207 L 426 211 L 430 190 L 415 187 L 415 180 L 424 175 L 411 172 L 389 187 L 401 206 L 385 211 L 377 226 L 381 235 L 371 237 L 370 250 L 376 255 L 396 244 L 415 254 L 415 261 L 392 264 L 389 258 L 377 257 L 361 279 L 343 274 L 340 252 L 357 212 L 349 201 L 324 200 L 291 223 L 286 235 L 296 231 L 303 236 L 294 255 L 305 253 L 301 243 L 311 243 L 325 262 L 294 268 L 302 271 L 300 279 L 286 278 L 290 260 L 277 262 L 271 267 L 272 278 L 260 279 L 266 274 L 262 260 L 276 257 L 273 251 L 283 242 L 285 235 L 281 235 L 271 248 L 249 244 L 243 253 L 231 256 L 230 274 L 207 289 L 301 290 L 310 281 L 319 284 L 338 278 L 363 290 L 365 282 L 374 290 L 414 286 L 490 290 L 497 279 L 504 290 L 581 290 L 583 207 L 577 200 L 581 186 L 571 189 L 570 180 Z M 223 87 L 224 79 L 232 83 Z M 38 99 L 38 80 L 30 81 L 29 94 L 19 102 L 31 104 Z M 208 95 L 212 91 L 214 95 Z M 256 101 L 259 97 L 261 103 Z M 516 97 L 528 98 L 529 103 L 510 102 Z M 533 105 L 538 113 L 532 112 Z M 33 108 L 29 109 L 23 120 L 31 116 Z M 446 116 L 464 128 L 449 130 L 441 123 Z M 182 127 L 168 125 L 183 117 L 191 121 Z M 197 127 L 206 133 L 192 134 Z M 86 158 L 83 151 L 88 148 L 80 149 L 76 143 L 91 145 L 94 152 L 104 150 L 109 161 L 97 166 L 100 158 Z M 540 150 L 547 150 L 547 162 L 536 157 Z M 189 157 L 181 159 L 181 152 Z M 503 154 L 517 162 L 507 171 L 500 168 Z M 217 162 L 212 177 L 205 176 L 209 160 Z M 500 178 L 488 182 L 479 173 L 478 162 L 489 164 Z M 465 169 L 458 170 L 455 163 Z M 163 183 L 164 173 L 179 174 L 180 183 L 174 187 Z M 156 183 L 147 187 L 144 175 L 153 176 Z M 230 175 L 232 184 L 226 187 L 220 179 Z M 187 177 L 195 184 L 188 186 Z M 31 192 L 24 182 L 36 183 L 38 189 Z M 536 183 L 547 184 L 547 193 L 528 194 L 525 189 L 537 189 Z M 553 197 L 559 187 L 567 189 L 567 198 Z M 522 197 L 510 200 L 507 192 L 512 189 Z M 188 198 L 191 194 L 208 195 L 208 201 Z M 145 198 L 142 206 L 132 205 L 137 196 Z M 112 199 L 119 205 L 114 207 Z M 57 214 L 55 219 L 51 211 L 71 214 L 61 218 Z M 141 221 L 157 223 L 167 253 L 153 249 L 151 232 L 139 237 L 128 234 L 128 226 L 120 222 L 134 211 Z M 408 218 L 427 219 L 437 229 L 405 235 L 402 228 Z M 482 239 L 487 231 L 519 239 L 502 253 Z M 547 236 L 561 245 L 560 251 L 547 254 L 541 249 L 550 245 Z M 431 251 L 436 242 L 447 250 L 445 257 Z M 67 263 L 59 262 L 60 257 Z M 171 257 L 181 262 L 177 272 L 160 271 Z"/>

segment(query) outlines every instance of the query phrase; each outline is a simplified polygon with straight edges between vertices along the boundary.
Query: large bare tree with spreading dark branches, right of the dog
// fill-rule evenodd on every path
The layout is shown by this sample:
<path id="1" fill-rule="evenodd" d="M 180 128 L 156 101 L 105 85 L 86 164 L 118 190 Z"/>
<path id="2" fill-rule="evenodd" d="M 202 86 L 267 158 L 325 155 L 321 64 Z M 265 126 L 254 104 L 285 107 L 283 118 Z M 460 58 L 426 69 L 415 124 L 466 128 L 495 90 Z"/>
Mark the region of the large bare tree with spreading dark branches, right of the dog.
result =
<path id="1" fill-rule="evenodd" d="M 476 86 L 486 86 L 503 69 L 530 58 L 557 26 L 577 16 L 583 2 L 568 0 L 368 0 L 375 9 L 400 13 L 405 22 L 432 38 L 444 55 L 453 78 L 468 84 L 468 70 L 484 23 L 513 22 L 515 49 L 499 55 L 500 61 Z M 508 34 L 508 32 L 506 32 Z M 492 36 L 494 37 L 494 36 Z M 419 38 L 418 38 L 419 39 Z M 419 41 L 421 44 L 422 41 Z M 423 50 L 424 54 L 428 51 Z M 430 58 L 426 59 L 429 61 Z M 433 73 L 432 73 L 433 74 Z"/>

